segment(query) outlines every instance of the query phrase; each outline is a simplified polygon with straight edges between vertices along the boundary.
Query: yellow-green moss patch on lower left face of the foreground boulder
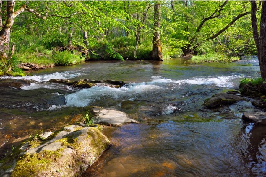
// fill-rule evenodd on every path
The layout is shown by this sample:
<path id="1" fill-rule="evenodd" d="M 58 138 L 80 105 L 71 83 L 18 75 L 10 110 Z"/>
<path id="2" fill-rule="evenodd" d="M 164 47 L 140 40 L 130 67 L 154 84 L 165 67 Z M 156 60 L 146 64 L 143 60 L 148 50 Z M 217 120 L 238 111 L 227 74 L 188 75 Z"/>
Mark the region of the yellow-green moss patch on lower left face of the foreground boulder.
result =
<path id="1" fill-rule="evenodd" d="M 45 170 L 52 161 L 59 159 L 62 150 L 63 149 L 57 151 L 43 150 L 40 153 L 24 154 L 17 161 L 17 165 L 11 173 L 11 177 L 35 176 L 35 174 Z"/>

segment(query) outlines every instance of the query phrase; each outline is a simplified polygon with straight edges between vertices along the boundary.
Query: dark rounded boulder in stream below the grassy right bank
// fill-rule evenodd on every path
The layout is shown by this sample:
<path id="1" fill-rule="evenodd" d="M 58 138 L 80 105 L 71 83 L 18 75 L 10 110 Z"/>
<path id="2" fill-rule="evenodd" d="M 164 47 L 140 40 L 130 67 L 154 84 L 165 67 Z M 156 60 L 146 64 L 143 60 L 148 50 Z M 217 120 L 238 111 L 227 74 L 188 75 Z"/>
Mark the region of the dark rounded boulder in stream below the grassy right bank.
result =
<path id="1" fill-rule="evenodd" d="M 222 105 L 230 105 L 233 103 L 236 103 L 237 101 L 244 100 L 243 98 L 234 95 L 234 94 L 228 94 L 228 93 L 220 93 L 220 94 L 215 94 L 211 98 L 206 99 L 204 101 L 204 106 L 213 109 L 220 107 Z"/>

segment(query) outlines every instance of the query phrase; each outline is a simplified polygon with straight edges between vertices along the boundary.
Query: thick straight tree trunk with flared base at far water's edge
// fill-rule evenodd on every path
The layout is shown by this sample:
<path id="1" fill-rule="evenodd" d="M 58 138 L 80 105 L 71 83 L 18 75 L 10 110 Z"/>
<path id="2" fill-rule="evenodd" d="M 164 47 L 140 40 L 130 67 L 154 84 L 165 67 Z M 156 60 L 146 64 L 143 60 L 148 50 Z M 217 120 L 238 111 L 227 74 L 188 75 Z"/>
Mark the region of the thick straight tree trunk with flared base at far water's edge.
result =
<path id="1" fill-rule="evenodd" d="M 160 40 L 160 19 L 161 9 L 159 2 L 155 2 L 154 6 L 154 25 L 153 25 L 153 50 L 150 53 L 151 60 L 163 61 L 162 46 Z"/>

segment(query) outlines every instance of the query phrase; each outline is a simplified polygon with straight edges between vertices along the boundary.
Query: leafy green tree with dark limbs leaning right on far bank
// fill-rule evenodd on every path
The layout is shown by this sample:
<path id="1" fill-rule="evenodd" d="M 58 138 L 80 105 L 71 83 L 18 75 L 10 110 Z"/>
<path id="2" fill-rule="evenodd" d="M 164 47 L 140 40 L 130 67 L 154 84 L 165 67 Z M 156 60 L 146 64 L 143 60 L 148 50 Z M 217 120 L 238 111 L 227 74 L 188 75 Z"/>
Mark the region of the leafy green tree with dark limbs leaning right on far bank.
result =
<path id="1" fill-rule="evenodd" d="M 184 55 L 197 54 L 202 44 L 217 40 L 241 17 L 251 13 L 245 1 L 173 1 L 171 9 L 175 18 L 179 16 L 179 21 L 183 21 L 180 31 L 186 34 L 182 32 L 176 38 L 182 43 L 186 41 L 182 47 Z"/>

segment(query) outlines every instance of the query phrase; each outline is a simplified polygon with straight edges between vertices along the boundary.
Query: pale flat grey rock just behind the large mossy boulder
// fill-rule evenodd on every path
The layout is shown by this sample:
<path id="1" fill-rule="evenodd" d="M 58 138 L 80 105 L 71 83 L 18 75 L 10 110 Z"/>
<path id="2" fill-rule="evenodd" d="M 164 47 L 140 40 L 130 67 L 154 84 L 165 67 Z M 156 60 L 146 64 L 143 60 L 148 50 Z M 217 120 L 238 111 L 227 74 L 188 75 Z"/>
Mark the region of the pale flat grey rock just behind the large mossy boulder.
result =
<path id="1" fill-rule="evenodd" d="M 100 109 L 94 108 L 96 116 L 94 117 L 94 123 L 121 125 L 126 123 L 139 123 L 134 119 L 129 118 L 129 116 L 116 109 Z"/>

